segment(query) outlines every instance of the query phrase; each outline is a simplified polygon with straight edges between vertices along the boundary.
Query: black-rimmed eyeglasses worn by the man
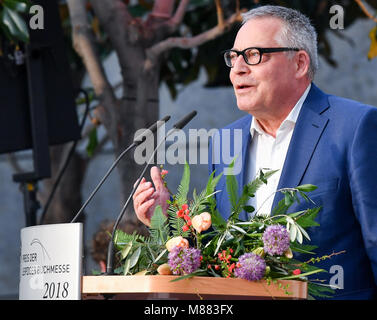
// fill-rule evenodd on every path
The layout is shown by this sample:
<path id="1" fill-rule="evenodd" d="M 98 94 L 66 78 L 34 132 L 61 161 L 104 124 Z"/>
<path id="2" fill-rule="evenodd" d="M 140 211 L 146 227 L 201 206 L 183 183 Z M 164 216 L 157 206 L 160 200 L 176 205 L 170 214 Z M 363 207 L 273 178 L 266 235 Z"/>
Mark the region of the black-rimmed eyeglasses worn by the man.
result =
<path id="1" fill-rule="evenodd" d="M 263 53 L 272 53 L 272 52 L 283 52 L 283 51 L 299 51 L 298 48 L 246 48 L 242 51 L 229 49 L 224 51 L 224 60 L 225 64 L 233 68 L 234 64 L 238 58 L 238 56 L 241 54 L 243 56 L 243 59 L 248 65 L 254 66 L 256 64 L 259 64 L 262 61 L 262 55 Z"/>

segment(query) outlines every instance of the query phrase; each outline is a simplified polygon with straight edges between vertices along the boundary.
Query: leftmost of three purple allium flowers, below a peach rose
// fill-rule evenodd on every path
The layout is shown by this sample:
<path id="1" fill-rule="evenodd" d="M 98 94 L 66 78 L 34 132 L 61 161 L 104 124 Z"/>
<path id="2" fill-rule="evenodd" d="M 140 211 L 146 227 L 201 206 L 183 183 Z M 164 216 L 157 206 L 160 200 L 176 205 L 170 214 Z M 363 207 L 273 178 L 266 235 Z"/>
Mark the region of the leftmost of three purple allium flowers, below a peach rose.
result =
<path id="1" fill-rule="evenodd" d="M 200 267 L 200 254 L 199 249 L 175 247 L 168 256 L 173 274 L 193 273 Z"/>

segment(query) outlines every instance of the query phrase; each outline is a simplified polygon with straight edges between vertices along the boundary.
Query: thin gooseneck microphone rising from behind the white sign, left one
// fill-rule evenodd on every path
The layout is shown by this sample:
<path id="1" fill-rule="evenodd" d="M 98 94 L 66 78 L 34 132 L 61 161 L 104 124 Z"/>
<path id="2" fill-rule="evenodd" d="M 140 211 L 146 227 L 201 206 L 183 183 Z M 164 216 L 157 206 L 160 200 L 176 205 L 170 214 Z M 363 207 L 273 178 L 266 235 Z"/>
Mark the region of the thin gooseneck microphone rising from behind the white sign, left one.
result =
<path id="1" fill-rule="evenodd" d="M 110 175 L 110 173 L 113 171 L 113 169 L 116 167 L 116 165 L 118 164 L 118 162 L 123 158 L 123 156 L 129 151 L 131 150 L 132 148 L 138 146 L 139 144 L 141 144 L 142 142 L 145 141 L 145 139 L 151 135 L 151 134 L 154 134 L 158 128 L 160 128 L 165 122 L 168 122 L 170 119 L 170 116 L 166 116 L 164 118 L 162 118 L 161 120 L 158 120 L 157 122 L 155 122 L 154 124 L 152 124 L 148 129 L 145 129 L 143 131 L 142 134 L 138 135 L 134 141 L 132 142 L 132 144 L 130 144 L 126 150 L 124 150 L 119 156 L 118 158 L 113 162 L 113 164 L 111 165 L 111 167 L 109 168 L 109 170 L 106 172 L 106 174 L 104 175 L 104 177 L 102 178 L 102 180 L 98 183 L 97 187 L 93 190 L 93 192 L 90 194 L 89 198 L 85 201 L 85 203 L 82 205 L 82 207 L 80 208 L 80 210 L 76 213 L 76 215 L 74 216 L 74 218 L 71 220 L 71 223 L 74 223 L 77 221 L 77 219 L 81 216 L 82 212 L 84 211 L 84 209 L 86 208 L 86 206 L 89 204 L 90 200 L 92 200 L 92 198 L 94 197 L 94 195 L 97 193 L 98 189 L 102 186 L 102 184 L 105 182 L 105 180 L 107 179 L 107 177 Z M 142 138 L 140 138 L 142 136 Z"/>

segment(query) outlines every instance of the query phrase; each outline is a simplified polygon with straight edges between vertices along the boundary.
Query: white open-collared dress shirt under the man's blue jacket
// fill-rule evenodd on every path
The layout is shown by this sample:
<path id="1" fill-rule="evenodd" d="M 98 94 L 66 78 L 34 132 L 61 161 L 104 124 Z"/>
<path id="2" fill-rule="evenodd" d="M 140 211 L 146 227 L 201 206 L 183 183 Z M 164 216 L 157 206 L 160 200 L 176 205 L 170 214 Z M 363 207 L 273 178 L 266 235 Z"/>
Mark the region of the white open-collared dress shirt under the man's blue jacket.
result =
<path id="1" fill-rule="evenodd" d="M 274 194 L 279 184 L 292 133 L 310 87 L 311 84 L 309 84 L 291 112 L 281 123 L 276 132 L 276 138 L 266 133 L 254 117 L 252 119 L 250 125 L 251 145 L 247 168 L 248 181 L 246 183 L 255 179 L 260 169 L 264 169 L 264 172 L 266 170 L 279 171 L 267 180 L 267 184 L 263 184 L 257 190 L 254 198 L 250 198 L 248 205 L 255 208 L 251 215 L 270 215 L 271 213 Z"/>

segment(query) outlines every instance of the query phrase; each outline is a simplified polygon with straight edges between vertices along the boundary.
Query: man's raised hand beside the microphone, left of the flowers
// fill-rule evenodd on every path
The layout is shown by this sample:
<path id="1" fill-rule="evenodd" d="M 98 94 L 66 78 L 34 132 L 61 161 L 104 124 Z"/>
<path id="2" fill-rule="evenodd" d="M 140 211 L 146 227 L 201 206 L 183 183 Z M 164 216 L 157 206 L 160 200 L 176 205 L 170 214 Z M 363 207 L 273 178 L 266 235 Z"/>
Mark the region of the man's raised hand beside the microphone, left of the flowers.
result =
<path id="1" fill-rule="evenodd" d="M 169 206 L 166 201 L 170 199 L 170 193 L 164 185 L 164 180 L 158 167 L 151 168 L 151 178 L 154 187 L 152 182 L 142 178 L 132 197 L 136 216 L 148 227 L 151 226 L 151 217 L 156 206 L 160 205 L 162 212 L 166 214 Z"/>

